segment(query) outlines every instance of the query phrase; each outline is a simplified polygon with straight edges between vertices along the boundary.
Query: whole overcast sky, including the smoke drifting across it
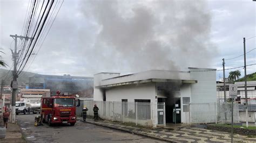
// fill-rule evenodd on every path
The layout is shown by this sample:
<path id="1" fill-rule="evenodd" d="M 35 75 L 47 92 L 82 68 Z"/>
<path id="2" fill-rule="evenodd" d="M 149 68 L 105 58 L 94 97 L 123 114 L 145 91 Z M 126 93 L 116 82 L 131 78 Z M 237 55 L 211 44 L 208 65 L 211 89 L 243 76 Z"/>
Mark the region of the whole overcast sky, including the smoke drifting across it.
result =
<path id="1" fill-rule="evenodd" d="M 14 42 L 9 35 L 22 34 L 30 2 L 0 1 L 0 48 L 10 67 Z M 243 54 L 244 37 L 248 39 L 246 52 L 256 48 L 256 38 L 251 38 L 256 36 L 255 15 L 252 0 L 64 0 L 25 71 L 93 76 L 150 69 L 222 69 L 223 58 L 226 68 L 240 67 L 243 56 L 232 58 Z M 247 65 L 256 63 L 256 49 L 246 56 Z M 244 69 L 238 70 L 244 76 Z M 226 70 L 226 77 L 230 71 Z M 256 65 L 247 67 L 248 74 L 254 72 Z M 217 80 L 221 77 L 223 71 L 217 71 Z"/>

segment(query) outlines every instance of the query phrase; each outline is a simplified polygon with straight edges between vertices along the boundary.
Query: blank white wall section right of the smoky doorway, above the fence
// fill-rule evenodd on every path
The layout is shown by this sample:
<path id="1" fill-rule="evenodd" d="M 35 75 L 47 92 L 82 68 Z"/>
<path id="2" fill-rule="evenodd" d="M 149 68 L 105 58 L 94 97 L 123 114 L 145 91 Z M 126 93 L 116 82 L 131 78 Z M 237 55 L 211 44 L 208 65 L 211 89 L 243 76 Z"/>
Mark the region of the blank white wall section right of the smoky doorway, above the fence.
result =
<path id="1" fill-rule="evenodd" d="M 217 102 L 216 71 L 198 70 L 209 69 L 190 68 L 191 80 L 198 81 L 196 84 L 191 84 L 191 102 Z"/>

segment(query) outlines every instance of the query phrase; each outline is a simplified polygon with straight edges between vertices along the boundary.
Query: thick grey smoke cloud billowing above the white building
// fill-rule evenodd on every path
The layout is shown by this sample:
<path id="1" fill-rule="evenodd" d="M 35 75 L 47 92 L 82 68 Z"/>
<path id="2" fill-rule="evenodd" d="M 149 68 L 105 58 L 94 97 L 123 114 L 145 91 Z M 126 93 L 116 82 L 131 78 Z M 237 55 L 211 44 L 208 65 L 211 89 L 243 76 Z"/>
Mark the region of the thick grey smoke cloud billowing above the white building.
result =
<path id="1" fill-rule="evenodd" d="M 80 9 L 98 31 L 86 58 L 104 69 L 207 67 L 215 51 L 204 1 L 83 1 Z"/>

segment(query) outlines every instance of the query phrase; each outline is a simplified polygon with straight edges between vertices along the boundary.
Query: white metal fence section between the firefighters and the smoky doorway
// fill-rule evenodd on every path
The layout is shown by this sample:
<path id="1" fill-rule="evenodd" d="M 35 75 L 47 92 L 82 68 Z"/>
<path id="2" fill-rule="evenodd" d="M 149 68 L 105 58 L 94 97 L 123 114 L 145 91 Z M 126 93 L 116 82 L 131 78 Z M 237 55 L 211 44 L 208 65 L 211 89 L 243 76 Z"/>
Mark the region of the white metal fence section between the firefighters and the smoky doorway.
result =
<path id="1" fill-rule="evenodd" d="M 97 104 L 98 115 L 102 119 L 143 126 L 165 126 L 164 103 L 83 101 L 83 105 L 89 109 L 88 116 L 93 116 L 94 104 Z"/>

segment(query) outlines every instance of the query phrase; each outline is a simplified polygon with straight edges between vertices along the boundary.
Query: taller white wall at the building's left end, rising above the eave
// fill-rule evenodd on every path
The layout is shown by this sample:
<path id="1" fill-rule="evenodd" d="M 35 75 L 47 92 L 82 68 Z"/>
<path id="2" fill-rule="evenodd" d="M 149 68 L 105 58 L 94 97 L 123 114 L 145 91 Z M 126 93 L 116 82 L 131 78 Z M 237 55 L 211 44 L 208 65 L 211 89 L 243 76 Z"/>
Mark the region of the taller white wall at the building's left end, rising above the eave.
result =
<path id="1" fill-rule="evenodd" d="M 99 73 L 94 75 L 94 89 L 93 89 L 93 101 L 103 101 L 103 92 L 99 88 L 95 88 L 102 85 L 102 80 L 106 78 L 119 76 L 119 73 Z"/>

